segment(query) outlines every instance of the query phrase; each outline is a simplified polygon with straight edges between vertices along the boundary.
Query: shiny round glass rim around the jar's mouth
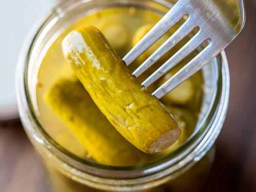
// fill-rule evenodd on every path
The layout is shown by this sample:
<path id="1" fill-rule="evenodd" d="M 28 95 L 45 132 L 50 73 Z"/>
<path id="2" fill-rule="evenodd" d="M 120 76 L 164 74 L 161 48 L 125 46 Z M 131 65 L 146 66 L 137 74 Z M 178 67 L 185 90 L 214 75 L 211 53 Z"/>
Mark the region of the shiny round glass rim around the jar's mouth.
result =
<path id="1" fill-rule="evenodd" d="M 229 96 L 229 73 L 227 67 L 227 60 L 224 52 L 222 52 L 222 54 L 217 56 L 216 58 L 216 62 L 218 60 L 219 71 L 217 72 L 217 74 L 219 75 L 219 86 L 216 89 L 216 97 L 212 98 L 207 113 L 205 114 L 204 118 L 201 119 L 201 122 L 197 125 L 198 128 L 196 129 L 194 134 L 191 135 L 185 141 L 185 143 L 179 146 L 176 150 L 170 152 L 163 157 L 159 157 L 158 159 L 152 160 L 150 162 L 132 166 L 110 166 L 94 163 L 66 150 L 66 148 L 59 145 L 45 131 L 44 127 L 37 119 L 37 115 L 33 110 L 33 104 L 30 98 L 28 88 L 28 68 L 29 65 L 31 65 L 30 57 L 32 54 L 32 50 L 34 49 L 35 41 L 38 40 L 38 34 L 40 34 L 42 30 L 45 30 L 43 26 L 47 25 L 48 20 L 51 19 L 51 16 L 58 11 L 59 7 L 68 6 L 71 2 L 73 1 L 64 1 L 56 8 L 54 8 L 53 11 L 42 17 L 37 25 L 34 26 L 34 28 L 31 30 L 30 34 L 25 40 L 22 52 L 20 53 L 16 71 L 16 93 L 19 114 L 24 126 L 26 127 L 25 130 L 28 132 L 32 132 L 32 137 L 40 140 L 43 145 L 46 145 L 47 150 L 49 150 L 50 153 L 56 154 L 59 159 L 65 161 L 71 166 L 74 166 L 78 170 L 82 170 L 83 172 L 90 173 L 92 175 L 96 174 L 104 176 L 105 174 L 106 177 L 109 177 L 110 175 L 112 175 L 112 177 L 116 177 L 117 175 L 118 177 L 120 177 L 120 175 L 122 175 L 120 174 L 120 172 L 125 172 L 123 177 L 134 178 L 136 176 L 139 177 L 140 175 L 150 175 L 152 173 L 159 172 L 160 170 L 166 169 L 166 167 L 170 167 L 181 160 L 184 160 L 184 162 L 188 163 L 195 160 L 196 156 L 200 158 L 200 155 L 202 155 L 201 151 L 203 151 L 204 148 L 209 147 L 213 144 L 212 141 L 208 141 L 209 138 L 213 137 L 213 139 L 215 140 L 220 132 L 221 128 L 215 129 L 215 127 L 213 127 L 212 125 L 214 123 L 219 123 L 222 125 L 227 110 L 227 102 Z M 136 0 L 131 2 L 136 2 Z M 166 1 L 152 0 L 152 2 L 156 2 L 167 8 L 172 7 L 172 4 L 167 3 Z M 125 1 L 125 3 L 127 3 L 127 1 Z M 220 109 L 224 112 L 224 114 L 219 113 Z M 220 118 L 215 119 L 218 115 L 220 116 Z M 108 173 L 105 173 L 105 170 L 108 170 Z M 129 172 L 129 174 L 127 174 L 127 172 Z"/>

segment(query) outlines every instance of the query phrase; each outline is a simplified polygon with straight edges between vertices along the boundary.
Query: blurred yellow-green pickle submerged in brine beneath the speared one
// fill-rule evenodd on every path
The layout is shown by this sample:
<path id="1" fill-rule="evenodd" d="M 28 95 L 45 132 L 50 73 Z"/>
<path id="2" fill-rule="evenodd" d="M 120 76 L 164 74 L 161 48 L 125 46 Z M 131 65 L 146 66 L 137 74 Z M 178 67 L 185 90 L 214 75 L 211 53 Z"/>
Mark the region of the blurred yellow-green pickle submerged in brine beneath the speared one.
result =
<path id="1" fill-rule="evenodd" d="M 56 81 L 44 100 L 98 163 L 127 166 L 150 158 L 116 131 L 76 77 Z"/>

